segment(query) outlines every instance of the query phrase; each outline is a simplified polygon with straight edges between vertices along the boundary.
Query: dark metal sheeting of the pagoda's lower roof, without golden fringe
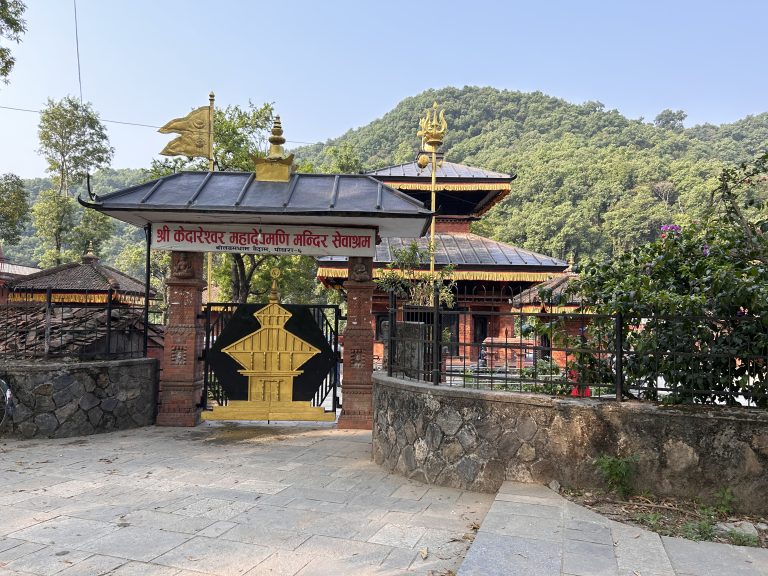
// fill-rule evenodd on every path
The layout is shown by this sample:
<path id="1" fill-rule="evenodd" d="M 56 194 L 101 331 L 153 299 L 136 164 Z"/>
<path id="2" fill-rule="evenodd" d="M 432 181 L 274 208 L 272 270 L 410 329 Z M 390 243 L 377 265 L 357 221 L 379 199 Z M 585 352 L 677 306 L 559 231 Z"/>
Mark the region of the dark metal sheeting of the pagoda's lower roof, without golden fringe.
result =
<path id="1" fill-rule="evenodd" d="M 374 262 L 378 264 L 392 262 L 393 251 L 403 249 L 413 241 L 416 241 L 423 250 L 426 250 L 429 245 L 428 237 L 382 238 L 381 243 L 376 246 Z M 318 260 L 328 265 L 331 262 L 346 261 L 346 258 L 329 256 Z M 423 264 L 428 265 L 429 260 L 425 260 Z M 438 266 L 452 264 L 457 270 L 482 268 L 495 271 L 525 268 L 560 272 L 568 267 L 568 263 L 563 260 L 471 233 L 435 234 L 435 264 Z"/>

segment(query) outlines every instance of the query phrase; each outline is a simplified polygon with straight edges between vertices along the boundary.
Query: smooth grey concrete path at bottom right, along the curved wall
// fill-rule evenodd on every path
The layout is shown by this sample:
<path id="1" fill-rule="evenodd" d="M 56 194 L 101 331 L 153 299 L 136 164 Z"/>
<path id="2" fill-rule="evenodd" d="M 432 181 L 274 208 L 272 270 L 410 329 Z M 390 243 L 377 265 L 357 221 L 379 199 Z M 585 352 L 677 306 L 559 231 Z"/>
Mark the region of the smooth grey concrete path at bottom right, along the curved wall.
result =
<path id="1" fill-rule="evenodd" d="M 458 576 L 768 576 L 768 550 L 660 537 L 505 482 Z"/>

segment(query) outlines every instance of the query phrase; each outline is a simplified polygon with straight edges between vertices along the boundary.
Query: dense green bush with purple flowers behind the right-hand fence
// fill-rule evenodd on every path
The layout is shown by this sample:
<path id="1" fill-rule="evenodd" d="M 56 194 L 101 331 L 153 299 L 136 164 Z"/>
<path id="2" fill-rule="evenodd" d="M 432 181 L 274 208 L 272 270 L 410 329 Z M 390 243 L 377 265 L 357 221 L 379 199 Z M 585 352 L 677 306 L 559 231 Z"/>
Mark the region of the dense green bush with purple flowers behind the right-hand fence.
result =
<path id="1" fill-rule="evenodd" d="M 768 182 L 768 155 L 728 168 L 706 218 L 612 260 L 585 266 L 576 289 L 601 314 L 624 319 L 626 375 L 674 401 L 768 406 L 768 214 L 754 198 Z M 693 352 L 693 353 L 692 353 Z"/>

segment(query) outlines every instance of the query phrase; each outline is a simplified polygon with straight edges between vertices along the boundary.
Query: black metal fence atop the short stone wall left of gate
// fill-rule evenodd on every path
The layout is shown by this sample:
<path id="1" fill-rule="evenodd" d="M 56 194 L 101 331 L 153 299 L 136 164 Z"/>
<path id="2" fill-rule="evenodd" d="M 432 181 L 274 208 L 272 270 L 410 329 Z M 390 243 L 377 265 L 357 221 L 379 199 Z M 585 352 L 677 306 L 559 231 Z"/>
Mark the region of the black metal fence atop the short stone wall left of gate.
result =
<path id="1" fill-rule="evenodd" d="M 141 358 L 162 346 L 153 317 L 143 295 L 118 290 L 11 291 L 0 304 L 0 359 Z"/>

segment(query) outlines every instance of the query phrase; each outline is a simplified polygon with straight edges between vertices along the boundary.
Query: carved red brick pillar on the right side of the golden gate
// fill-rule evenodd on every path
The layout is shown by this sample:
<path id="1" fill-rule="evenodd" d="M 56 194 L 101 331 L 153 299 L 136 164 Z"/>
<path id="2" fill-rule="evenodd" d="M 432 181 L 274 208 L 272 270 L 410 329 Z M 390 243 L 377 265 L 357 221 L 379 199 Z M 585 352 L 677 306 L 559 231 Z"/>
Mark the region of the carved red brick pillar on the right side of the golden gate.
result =
<path id="1" fill-rule="evenodd" d="M 347 327 L 344 330 L 344 376 L 339 428 L 373 429 L 373 258 L 349 259 Z"/>

